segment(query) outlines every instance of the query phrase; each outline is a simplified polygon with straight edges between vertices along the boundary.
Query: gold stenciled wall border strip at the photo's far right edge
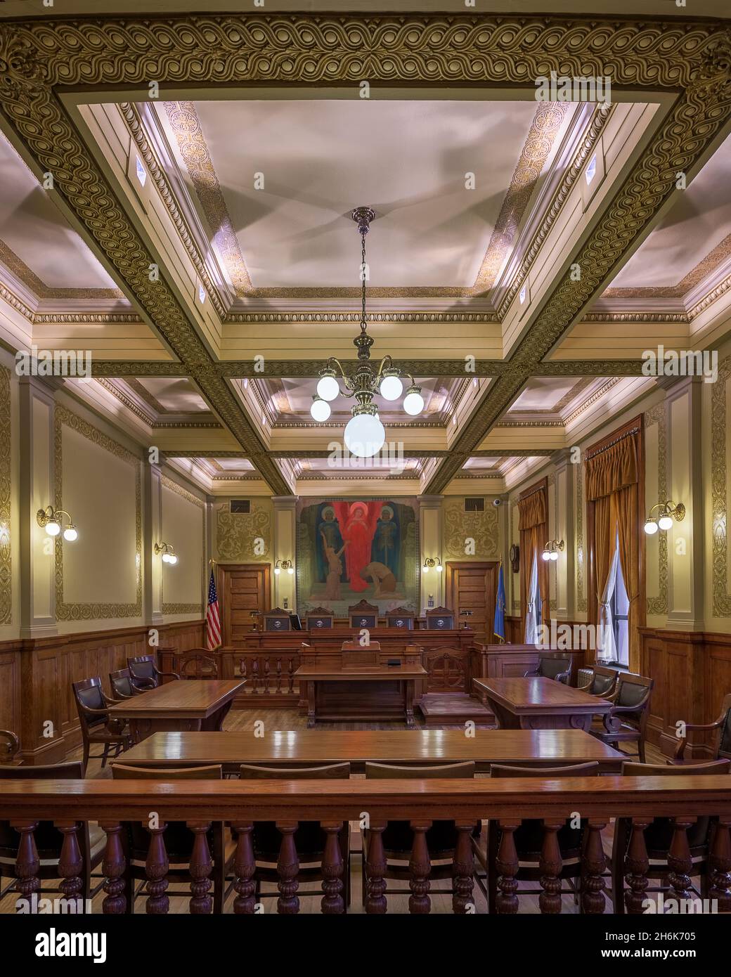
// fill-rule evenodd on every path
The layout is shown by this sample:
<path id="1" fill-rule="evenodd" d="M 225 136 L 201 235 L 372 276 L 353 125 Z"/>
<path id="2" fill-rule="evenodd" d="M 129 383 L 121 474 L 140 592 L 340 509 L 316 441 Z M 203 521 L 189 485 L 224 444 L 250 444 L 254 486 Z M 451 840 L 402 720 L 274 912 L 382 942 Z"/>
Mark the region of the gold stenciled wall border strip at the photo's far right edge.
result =
<path id="1" fill-rule="evenodd" d="M 728 528 L 726 504 L 726 383 L 731 357 L 718 365 L 718 379 L 710 395 L 710 498 L 712 506 L 713 616 L 731 617 L 728 592 Z"/>

